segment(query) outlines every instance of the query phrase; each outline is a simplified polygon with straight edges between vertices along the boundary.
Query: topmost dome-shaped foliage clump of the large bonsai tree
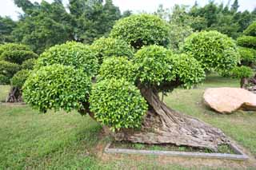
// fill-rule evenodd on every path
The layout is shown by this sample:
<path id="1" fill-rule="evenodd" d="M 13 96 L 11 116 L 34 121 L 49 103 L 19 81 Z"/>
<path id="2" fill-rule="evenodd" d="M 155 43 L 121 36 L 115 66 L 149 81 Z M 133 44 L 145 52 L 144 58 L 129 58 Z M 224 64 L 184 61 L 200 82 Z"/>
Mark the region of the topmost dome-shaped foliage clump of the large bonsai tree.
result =
<path id="1" fill-rule="evenodd" d="M 139 14 L 122 18 L 114 25 L 110 37 L 126 41 L 135 49 L 143 45 L 164 45 L 169 40 L 168 24 L 155 15 Z"/>

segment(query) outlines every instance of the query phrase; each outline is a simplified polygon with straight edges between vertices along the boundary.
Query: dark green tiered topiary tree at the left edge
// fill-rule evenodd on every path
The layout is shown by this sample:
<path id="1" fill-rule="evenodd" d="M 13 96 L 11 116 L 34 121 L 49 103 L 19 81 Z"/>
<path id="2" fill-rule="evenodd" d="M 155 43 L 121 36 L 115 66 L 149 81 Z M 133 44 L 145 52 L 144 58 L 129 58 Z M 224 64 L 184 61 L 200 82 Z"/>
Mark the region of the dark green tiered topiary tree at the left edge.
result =
<path id="1" fill-rule="evenodd" d="M 14 43 L 0 45 L 0 84 L 11 85 L 6 102 L 22 101 L 21 85 L 28 74 L 28 71 L 23 69 L 32 69 L 34 63 L 31 61 L 36 58 L 38 55 L 30 51 L 26 45 Z"/>

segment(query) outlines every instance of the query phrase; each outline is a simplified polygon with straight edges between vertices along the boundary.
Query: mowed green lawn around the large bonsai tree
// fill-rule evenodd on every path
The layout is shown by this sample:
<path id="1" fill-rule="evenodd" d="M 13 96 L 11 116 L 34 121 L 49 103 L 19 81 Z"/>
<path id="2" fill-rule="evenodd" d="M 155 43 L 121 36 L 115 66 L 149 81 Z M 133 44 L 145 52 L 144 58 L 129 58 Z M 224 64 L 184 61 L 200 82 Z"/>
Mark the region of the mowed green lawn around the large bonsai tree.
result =
<path id="1" fill-rule="evenodd" d="M 196 89 L 174 90 L 165 101 L 178 111 L 221 128 L 256 156 L 256 112 L 222 115 L 202 105 L 207 87 L 238 87 L 238 82 L 211 75 Z M 6 98 L 8 89 L 0 86 L 0 101 Z M 109 140 L 98 123 L 76 112 L 42 114 L 29 106 L 0 105 L 0 169 L 187 169 L 178 164 L 158 164 L 154 156 L 147 160 L 104 160 L 99 153 Z"/>

